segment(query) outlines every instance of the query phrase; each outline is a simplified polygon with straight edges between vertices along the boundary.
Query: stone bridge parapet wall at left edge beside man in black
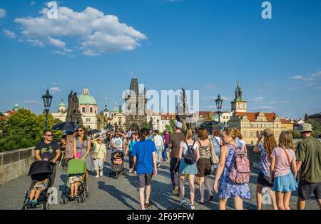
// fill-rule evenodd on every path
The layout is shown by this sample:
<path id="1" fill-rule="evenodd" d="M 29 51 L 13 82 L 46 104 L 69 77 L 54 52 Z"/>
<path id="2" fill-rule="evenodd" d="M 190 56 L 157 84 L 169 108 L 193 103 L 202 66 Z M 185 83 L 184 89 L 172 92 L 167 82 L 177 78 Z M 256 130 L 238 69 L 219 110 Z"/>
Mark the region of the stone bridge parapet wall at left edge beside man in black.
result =
<path id="1" fill-rule="evenodd" d="M 27 175 L 34 162 L 34 148 L 0 153 L 0 185 Z"/>

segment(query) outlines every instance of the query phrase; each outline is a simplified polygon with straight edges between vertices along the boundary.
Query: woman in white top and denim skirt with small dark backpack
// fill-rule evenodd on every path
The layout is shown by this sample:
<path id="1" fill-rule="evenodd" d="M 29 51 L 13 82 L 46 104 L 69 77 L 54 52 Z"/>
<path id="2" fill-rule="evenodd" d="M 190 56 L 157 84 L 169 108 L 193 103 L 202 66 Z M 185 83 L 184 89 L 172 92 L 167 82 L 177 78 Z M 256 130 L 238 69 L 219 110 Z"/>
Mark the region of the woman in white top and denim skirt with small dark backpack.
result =
<path id="1" fill-rule="evenodd" d="M 178 153 L 178 158 L 180 160 L 180 205 L 186 203 L 185 199 L 185 188 L 184 188 L 184 179 L 185 175 L 188 175 L 188 183 L 190 188 L 190 204 L 188 208 L 194 210 L 194 198 L 195 198 L 195 186 L 194 178 L 195 174 L 198 173 L 196 163 L 198 158 L 200 158 L 200 151 L 198 151 L 198 143 L 192 139 L 193 132 L 192 129 L 188 128 L 186 131 L 185 141 L 180 142 L 180 150 Z"/>

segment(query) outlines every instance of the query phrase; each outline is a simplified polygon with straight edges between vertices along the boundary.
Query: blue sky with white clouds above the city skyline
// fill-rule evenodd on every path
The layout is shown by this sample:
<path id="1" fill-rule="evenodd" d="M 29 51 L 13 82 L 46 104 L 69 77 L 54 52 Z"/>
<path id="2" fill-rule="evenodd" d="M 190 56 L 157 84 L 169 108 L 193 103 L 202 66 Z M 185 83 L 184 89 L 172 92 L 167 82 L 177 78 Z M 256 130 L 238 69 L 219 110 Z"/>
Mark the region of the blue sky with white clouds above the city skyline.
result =
<path id="1" fill-rule="evenodd" d="M 240 80 L 248 111 L 299 118 L 321 111 L 321 1 L 0 0 L 0 111 L 41 113 L 88 87 L 103 109 L 131 78 L 147 89 L 198 89 L 200 109 L 230 109 Z M 89 7 L 89 8 L 88 8 Z M 42 13 L 41 13 L 42 11 Z"/>

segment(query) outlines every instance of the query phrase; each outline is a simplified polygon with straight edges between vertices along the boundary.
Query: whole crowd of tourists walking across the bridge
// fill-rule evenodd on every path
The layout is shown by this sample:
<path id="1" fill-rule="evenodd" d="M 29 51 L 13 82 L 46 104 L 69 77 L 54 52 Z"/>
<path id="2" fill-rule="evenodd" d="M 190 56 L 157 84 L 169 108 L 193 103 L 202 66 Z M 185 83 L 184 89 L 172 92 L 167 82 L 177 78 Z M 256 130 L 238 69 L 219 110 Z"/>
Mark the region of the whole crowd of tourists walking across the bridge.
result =
<path id="1" fill-rule="evenodd" d="M 157 175 L 161 163 L 169 162 L 172 193 L 179 197 L 179 205 L 187 204 L 189 209 L 195 209 L 195 184 L 198 184 L 198 203 L 211 201 L 214 193 L 218 193 L 220 209 L 226 209 L 229 198 L 233 198 L 235 209 L 243 209 L 243 200 L 250 199 L 251 195 L 248 184 L 250 163 L 240 131 L 225 128 L 221 132 L 208 133 L 205 128 L 198 128 L 196 132 L 188 128 L 183 133 L 181 129 L 182 123 L 175 121 L 173 133 L 142 128 L 138 132 L 111 130 L 103 136 L 87 136 L 86 128 L 81 126 L 76 133 L 63 136 L 60 145 L 52 141 L 51 131 L 44 131 L 44 141 L 35 148 L 36 158 L 50 161 L 54 181 L 56 162 L 61 157 L 61 150 L 66 158 L 68 138 L 71 138 L 72 158 L 86 161 L 88 180 L 88 171 L 95 172 L 96 178 L 103 175 L 108 149 L 123 151 L 128 156 L 128 173 L 137 175 L 143 210 L 153 204 L 150 198 L 153 176 Z M 260 153 L 256 188 L 259 210 L 262 208 L 263 188 L 270 189 L 275 210 L 290 210 L 290 198 L 297 188 L 297 209 L 305 208 L 305 201 L 312 193 L 321 209 L 321 143 L 312 137 L 310 124 L 303 123 L 300 132 L 303 141 L 297 148 L 289 131 L 282 131 L 277 140 L 271 129 L 257 133 L 258 141 L 253 152 Z M 297 175 L 299 170 L 300 175 Z M 209 178 L 212 174 L 214 182 Z M 185 198 L 185 178 L 188 179 L 188 199 Z M 208 198 L 204 196 L 205 189 Z"/>

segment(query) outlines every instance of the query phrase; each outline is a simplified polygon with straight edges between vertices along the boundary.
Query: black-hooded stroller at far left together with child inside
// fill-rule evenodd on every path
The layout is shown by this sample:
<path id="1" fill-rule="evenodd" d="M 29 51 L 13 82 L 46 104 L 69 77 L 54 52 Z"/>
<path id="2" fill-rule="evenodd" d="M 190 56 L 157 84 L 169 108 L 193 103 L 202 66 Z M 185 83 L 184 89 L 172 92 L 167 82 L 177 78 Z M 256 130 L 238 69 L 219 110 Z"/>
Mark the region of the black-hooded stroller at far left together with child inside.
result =
<path id="1" fill-rule="evenodd" d="M 22 209 L 36 208 L 42 205 L 43 209 L 49 207 L 48 189 L 51 187 L 51 166 L 48 161 L 35 161 L 31 164 L 29 174 L 31 176 L 31 187 L 26 193 Z"/>

